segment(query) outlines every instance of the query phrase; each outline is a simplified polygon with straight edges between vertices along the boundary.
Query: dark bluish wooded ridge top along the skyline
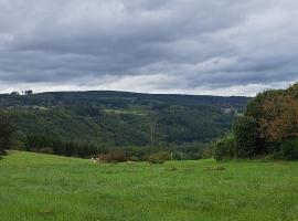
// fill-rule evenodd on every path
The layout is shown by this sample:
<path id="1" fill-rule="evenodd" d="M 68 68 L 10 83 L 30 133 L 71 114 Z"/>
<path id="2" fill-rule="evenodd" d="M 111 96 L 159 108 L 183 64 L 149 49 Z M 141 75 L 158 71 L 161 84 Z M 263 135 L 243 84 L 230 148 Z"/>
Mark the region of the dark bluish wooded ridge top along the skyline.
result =
<path id="1" fill-rule="evenodd" d="M 26 96 L 0 95 L 0 106 L 55 106 L 55 105 L 216 105 L 243 108 L 247 103 L 243 96 L 207 96 L 207 95 L 179 95 L 179 94 L 141 94 L 115 91 L 91 91 L 91 92 L 49 92 Z"/>

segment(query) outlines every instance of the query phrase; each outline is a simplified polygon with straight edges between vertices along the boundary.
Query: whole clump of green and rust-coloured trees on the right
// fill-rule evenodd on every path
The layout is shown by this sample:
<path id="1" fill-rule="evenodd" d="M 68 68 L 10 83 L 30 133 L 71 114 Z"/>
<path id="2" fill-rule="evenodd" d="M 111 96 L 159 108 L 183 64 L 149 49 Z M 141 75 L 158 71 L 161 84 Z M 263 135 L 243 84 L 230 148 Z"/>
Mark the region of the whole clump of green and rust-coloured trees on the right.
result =
<path id="1" fill-rule="evenodd" d="M 259 155 L 298 159 L 298 84 L 258 94 L 235 119 L 232 133 L 214 144 L 219 160 Z"/>

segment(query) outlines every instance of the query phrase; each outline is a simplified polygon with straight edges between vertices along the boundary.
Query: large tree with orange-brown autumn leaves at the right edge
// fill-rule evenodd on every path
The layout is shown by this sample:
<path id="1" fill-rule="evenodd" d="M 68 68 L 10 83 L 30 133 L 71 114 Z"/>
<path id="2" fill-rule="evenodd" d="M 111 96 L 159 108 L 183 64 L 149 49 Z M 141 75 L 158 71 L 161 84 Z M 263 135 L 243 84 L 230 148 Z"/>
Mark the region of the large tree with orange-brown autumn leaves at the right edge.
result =
<path id="1" fill-rule="evenodd" d="M 298 84 L 258 94 L 245 115 L 256 119 L 258 138 L 265 143 L 298 137 Z"/>

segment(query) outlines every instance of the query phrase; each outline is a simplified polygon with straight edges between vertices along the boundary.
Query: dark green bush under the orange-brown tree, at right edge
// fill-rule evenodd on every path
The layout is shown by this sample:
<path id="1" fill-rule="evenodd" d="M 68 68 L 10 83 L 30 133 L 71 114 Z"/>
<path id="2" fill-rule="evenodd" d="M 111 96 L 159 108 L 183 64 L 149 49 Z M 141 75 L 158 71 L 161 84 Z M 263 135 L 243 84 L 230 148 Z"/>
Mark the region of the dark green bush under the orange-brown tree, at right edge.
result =
<path id="1" fill-rule="evenodd" d="M 291 138 L 283 141 L 279 147 L 279 156 L 283 159 L 298 159 L 298 138 Z"/>

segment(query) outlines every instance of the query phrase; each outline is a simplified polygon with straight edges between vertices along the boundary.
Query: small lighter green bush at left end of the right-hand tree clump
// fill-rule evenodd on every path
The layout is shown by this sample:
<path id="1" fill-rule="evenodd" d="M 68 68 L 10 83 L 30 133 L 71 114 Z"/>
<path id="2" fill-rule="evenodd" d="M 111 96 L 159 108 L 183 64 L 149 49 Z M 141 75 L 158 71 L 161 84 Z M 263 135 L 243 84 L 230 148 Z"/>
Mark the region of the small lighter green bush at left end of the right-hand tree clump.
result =
<path id="1" fill-rule="evenodd" d="M 222 139 L 215 141 L 213 151 L 214 159 L 216 160 L 234 158 L 237 151 L 234 135 L 230 134 Z"/>

